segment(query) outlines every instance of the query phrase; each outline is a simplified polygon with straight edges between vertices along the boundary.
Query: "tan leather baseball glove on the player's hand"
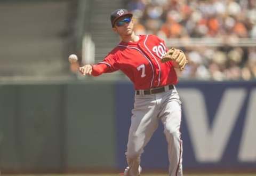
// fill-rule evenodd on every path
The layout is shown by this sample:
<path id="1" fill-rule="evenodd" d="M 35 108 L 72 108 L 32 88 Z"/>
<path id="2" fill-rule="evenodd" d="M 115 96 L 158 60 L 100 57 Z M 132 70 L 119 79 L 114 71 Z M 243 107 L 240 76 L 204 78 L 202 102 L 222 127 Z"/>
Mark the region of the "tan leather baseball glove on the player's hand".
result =
<path id="1" fill-rule="evenodd" d="M 185 66 L 188 63 L 186 55 L 183 53 L 183 51 L 174 49 L 174 47 L 167 51 L 163 58 L 161 59 L 161 62 L 163 63 L 167 61 L 177 62 L 181 71 L 185 68 Z"/>

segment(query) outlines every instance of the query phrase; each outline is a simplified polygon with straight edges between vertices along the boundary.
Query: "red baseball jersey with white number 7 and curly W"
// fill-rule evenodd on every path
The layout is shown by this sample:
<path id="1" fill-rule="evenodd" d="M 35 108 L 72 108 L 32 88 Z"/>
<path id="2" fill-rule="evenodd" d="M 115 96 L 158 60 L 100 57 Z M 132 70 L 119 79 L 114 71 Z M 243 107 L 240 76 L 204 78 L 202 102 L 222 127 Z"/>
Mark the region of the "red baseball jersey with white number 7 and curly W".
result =
<path id="1" fill-rule="evenodd" d="M 155 35 L 139 37 L 137 42 L 119 43 L 102 62 L 93 66 L 92 75 L 121 70 L 131 79 L 135 90 L 177 84 L 172 62 L 161 62 L 167 52 L 165 42 Z"/>

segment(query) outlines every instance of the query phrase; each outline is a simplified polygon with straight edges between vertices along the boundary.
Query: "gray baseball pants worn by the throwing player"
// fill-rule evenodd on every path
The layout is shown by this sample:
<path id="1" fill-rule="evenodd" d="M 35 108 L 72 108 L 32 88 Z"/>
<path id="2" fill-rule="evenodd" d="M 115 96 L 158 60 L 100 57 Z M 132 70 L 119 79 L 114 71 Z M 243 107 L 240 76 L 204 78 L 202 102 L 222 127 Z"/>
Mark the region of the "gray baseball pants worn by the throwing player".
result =
<path id="1" fill-rule="evenodd" d="M 166 90 L 166 89 L 165 89 Z M 168 144 L 169 176 L 182 176 L 182 140 L 180 139 L 181 102 L 177 90 L 136 95 L 132 110 L 131 126 L 127 143 L 126 161 L 129 170 L 126 175 L 139 175 L 140 156 L 159 120 L 164 125 Z"/>

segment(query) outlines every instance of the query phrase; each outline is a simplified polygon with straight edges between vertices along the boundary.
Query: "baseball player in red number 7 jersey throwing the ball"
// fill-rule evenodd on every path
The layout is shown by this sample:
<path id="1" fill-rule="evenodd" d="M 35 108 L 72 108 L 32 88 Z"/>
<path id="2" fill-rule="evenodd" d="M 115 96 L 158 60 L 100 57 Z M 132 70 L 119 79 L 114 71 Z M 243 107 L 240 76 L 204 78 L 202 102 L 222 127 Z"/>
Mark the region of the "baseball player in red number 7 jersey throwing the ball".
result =
<path id="1" fill-rule="evenodd" d="M 99 76 L 122 70 L 134 84 L 135 98 L 127 143 L 124 175 L 140 175 L 140 156 L 158 122 L 164 125 L 168 143 L 169 175 L 182 175 L 182 140 L 180 138 L 181 102 L 175 89 L 175 68 L 183 69 L 185 54 L 167 50 L 165 42 L 155 35 L 135 35 L 132 13 L 117 9 L 111 13 L 113 30 L 121 42 L 97 65 L 79 68 L 83 75 Z"/>

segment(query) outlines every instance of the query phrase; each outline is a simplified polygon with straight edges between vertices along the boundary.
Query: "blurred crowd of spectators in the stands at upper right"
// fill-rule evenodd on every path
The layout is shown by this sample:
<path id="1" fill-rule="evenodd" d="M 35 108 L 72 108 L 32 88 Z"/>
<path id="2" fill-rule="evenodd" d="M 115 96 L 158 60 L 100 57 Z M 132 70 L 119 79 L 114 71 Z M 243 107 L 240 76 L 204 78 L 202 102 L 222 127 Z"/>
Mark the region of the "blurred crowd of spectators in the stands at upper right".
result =
<path id="1" fill-rule="evenodd" d="M 136 34 L 172 38 L 256 39 L 255 0 L 126 0 Z M 254 40 L 255 41 L 255 40 Z M 180 46 L 190 63 L 182 78 L 256 78 L 256 43 L 250 47 Z"/>

